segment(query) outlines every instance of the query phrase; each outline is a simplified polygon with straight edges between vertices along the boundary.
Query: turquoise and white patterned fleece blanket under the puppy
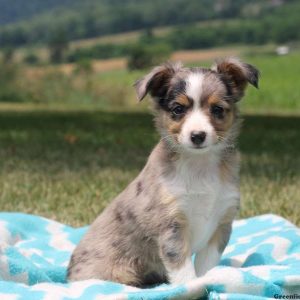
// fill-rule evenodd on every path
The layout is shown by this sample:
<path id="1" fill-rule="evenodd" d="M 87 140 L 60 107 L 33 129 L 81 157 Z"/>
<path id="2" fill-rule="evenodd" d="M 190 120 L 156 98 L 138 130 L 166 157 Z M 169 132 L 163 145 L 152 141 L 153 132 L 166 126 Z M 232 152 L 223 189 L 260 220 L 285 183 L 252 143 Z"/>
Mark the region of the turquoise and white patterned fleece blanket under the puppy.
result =
<path id="1" fill-rule="evenodd" d="M 205 276 L 147 289 L 66 282 L 71 253 L 86 230 L 0 213 L 0 299 L 300 299 L 300 229 L 276 215 L 235 221 L 219 265 Z"/>

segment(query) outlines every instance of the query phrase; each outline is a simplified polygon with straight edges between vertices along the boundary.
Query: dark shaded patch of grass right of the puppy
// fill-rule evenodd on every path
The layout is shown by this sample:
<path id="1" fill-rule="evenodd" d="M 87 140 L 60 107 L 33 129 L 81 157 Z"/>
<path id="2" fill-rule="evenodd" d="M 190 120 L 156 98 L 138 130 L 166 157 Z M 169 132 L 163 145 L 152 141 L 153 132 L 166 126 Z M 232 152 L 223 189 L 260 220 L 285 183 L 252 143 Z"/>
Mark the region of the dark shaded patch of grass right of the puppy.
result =
<path id="1" fill-rule="evenodd" d="M 239 139 L 242 172 L 270 179 L 300 176 L 299 128 L 299 116 L 246 116 Z"/>

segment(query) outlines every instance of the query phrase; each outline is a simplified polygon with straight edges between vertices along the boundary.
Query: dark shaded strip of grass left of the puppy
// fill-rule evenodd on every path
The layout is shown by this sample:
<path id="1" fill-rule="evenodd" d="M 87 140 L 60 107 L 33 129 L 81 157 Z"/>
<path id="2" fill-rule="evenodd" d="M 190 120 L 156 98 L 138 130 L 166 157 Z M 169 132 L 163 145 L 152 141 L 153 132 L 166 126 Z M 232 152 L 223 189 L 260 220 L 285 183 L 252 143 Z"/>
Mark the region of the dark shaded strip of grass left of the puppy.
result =
<path id="1" fill-rule="evenodd" d="M 145 113 L 1 112 L 0 163 L 45 172 L 141 168 L 157 140 L 151 119 Z"/>

